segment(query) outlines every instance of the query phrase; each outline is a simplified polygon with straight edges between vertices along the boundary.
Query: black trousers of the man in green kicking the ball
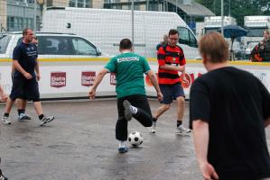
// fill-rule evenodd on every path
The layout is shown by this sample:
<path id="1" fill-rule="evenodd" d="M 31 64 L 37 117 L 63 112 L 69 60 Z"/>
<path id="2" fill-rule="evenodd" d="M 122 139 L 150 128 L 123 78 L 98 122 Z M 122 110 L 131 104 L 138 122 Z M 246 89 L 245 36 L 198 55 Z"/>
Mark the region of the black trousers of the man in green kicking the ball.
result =
<path id="1" fill-rule="evenodd" d="M 127 139 L 127 121 L 123 102 L 127 100 L 138 111 L 133 117 L 144 127 L 152 126 L 153 116 L 146 95 L 134 94 L 117 99 L 118 120 L 116 122 L 116 139 L 125 141 Z"/>

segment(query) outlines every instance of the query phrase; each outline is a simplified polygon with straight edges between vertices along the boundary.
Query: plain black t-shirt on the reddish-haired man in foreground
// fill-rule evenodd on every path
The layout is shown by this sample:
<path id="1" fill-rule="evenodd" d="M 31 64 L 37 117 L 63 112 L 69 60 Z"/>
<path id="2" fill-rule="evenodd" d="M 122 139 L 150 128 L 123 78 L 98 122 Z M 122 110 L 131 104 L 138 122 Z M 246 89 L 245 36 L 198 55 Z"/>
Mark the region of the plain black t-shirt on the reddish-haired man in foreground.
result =
<path id="1" fill-rule="evenodd" d="M 209 123 L 208 160 L 220 180 L 270 176 L 264 128 L 270 94 L 256 76 L 236 67 L 215 69 L 196 79 L 190 98 L 191 121 Z"/>

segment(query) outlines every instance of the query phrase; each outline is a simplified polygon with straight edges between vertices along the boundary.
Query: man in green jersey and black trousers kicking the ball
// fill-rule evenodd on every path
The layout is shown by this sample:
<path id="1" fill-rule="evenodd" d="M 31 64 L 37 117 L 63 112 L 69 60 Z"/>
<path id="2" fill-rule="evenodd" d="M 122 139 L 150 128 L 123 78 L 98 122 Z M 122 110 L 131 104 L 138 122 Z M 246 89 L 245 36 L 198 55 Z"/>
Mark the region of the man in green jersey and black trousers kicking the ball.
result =
<path id="1" fill-rule="evenodd" d="M 116 73 L 116 94 L 118 120 L 116 122 L 116 139 L 119 142 L 118 151 L 127 152 L 127 121 L 134 117 L 145 127 L 152 126 L 152 113 L 145 95 L 144 73 L 149 76 L 157 93 L 159 101 L 163 100 L 163 94 L 159 88 L 155 73 L 150 69 L 144 57 L 132 53 L 133 45 L 128 39 L 120 41 L 120 55 L 111 58 L 107 65 L 98 72 L 94 85 L 88 96 L 94 99 L 96 89 L 107 73 Z"/>

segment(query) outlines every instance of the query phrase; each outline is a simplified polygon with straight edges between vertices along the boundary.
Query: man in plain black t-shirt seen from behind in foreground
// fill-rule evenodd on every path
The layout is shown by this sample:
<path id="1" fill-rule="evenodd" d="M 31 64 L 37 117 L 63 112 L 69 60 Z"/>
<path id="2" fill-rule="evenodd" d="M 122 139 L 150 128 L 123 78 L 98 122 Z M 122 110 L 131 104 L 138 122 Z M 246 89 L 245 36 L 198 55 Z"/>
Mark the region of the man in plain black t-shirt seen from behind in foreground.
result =
<path id="1" fill-rule="evenodd" d="M 191 86 L 190 118 L 204 179 L 268 179 L 269 92 L 256 76 L 228 66 L 228 44 L 218 32 L 201 38 L 200 54 L 209 72 Z"/>

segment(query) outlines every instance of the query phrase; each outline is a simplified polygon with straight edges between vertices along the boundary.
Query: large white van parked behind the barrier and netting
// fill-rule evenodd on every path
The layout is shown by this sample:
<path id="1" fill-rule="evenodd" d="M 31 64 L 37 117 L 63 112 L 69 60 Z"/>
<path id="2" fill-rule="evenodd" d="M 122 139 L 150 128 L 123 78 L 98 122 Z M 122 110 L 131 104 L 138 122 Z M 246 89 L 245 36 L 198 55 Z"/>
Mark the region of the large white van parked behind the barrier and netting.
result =
<path id="1" fill-rule="evenodd" d="M 170 29 L 180 32 L 185 57 L 198 58 L 197 39 L 188 25 L 175 13 L 135 11 L 135 53 L 156 58 L 156 45 Z M 102 51 L 116 55 L 119 41 L 132 39 L 130 10 L 49 7 L 42 16 L 42 31 L 76 33 L 93 41 Z"/>

